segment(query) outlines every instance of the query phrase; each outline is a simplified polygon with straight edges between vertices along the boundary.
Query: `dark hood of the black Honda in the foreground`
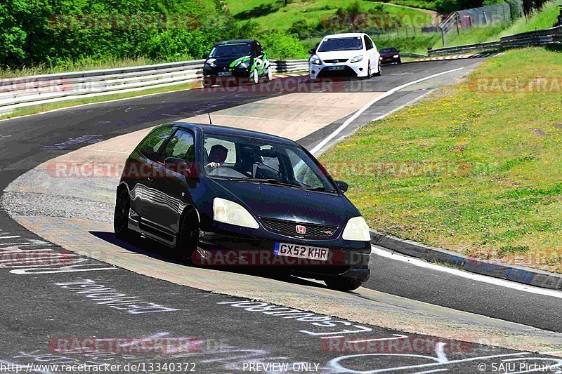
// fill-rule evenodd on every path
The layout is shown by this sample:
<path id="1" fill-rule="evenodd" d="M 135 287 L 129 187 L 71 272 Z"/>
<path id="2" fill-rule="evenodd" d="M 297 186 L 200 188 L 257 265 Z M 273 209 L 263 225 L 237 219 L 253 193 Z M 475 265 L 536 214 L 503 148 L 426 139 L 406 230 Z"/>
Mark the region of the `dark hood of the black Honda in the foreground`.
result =
<path id="1" fill-rule="evenodd" d="M 346 196 L 254 182 L 209 179 L 216 196 L 235 201 L 259 217 L 334 225 L 360 215 Z"/>

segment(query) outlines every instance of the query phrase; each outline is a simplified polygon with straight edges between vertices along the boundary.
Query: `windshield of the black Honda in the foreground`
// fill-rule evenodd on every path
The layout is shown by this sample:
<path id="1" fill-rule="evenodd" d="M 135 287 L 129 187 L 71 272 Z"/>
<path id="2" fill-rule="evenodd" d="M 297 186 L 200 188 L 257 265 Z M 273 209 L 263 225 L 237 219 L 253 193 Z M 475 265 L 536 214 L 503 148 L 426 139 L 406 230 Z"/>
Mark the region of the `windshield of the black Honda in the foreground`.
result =
<path id="1" fill-rule="evenodd" d="M 206 134 L 203 152 L 204 172 L 211 178 L 336 192 L 327 175 L 297 145 Z"/>

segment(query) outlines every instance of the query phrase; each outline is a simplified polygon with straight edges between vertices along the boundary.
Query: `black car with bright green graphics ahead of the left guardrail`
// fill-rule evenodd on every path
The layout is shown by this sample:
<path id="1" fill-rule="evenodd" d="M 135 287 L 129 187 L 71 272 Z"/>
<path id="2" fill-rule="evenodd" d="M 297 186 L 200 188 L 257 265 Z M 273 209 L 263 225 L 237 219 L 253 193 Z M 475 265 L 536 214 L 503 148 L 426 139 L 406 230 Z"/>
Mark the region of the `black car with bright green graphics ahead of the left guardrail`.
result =
<path id="1" fill-rule="evenodd" d="M 221 41 L 213 46 L 203 67 L 203 86 L 235 80 L 258 84 L 270 80 L 271 64 L 261 45 L 252 39 Z"/>

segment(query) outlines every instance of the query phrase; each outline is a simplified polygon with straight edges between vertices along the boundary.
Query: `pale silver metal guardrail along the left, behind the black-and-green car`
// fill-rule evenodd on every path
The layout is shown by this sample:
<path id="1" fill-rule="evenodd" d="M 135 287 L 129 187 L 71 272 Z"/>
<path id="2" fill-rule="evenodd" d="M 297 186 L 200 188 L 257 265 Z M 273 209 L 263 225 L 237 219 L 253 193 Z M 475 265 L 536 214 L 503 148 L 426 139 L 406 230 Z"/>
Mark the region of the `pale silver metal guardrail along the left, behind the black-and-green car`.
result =
<path id="1" fill-rule="evenodd" d="M 0 112 L 20 107 L 197 82 L 204 60 L 0 80 Z M 272 60 L 273 73 L 308 70 L 308 60 Z"/>

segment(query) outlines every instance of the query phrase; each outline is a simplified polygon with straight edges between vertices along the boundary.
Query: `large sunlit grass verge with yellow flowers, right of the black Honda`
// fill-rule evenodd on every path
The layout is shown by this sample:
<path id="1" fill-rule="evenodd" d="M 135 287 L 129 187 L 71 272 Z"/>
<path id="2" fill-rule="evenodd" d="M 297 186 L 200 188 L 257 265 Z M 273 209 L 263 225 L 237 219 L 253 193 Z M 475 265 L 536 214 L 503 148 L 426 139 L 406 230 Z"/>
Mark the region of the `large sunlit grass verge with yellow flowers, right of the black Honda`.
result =
<path id="1" fill-rule="evenodd" d="M 562 272 L 561 59 L 528 48 L 485 60 L 467 81 L 360 128 L 322 163 L 350 182 L 348 197 L 379 232 Z M 553 92 L 482 84 L 542 76 L 558 78 Z"/>

